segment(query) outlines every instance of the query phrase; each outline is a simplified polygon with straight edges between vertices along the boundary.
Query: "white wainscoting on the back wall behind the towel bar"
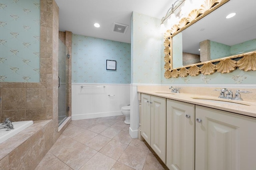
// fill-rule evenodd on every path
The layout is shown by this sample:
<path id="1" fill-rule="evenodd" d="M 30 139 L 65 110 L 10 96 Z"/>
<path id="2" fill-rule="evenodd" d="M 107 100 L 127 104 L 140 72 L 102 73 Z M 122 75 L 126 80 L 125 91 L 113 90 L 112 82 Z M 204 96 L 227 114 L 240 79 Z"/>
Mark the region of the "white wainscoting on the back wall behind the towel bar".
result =
<path id="1" fill-rule="evenodd" d="M 72 120 L 122 115 L 128 104 L 130 84 L 72 84 Z"/>

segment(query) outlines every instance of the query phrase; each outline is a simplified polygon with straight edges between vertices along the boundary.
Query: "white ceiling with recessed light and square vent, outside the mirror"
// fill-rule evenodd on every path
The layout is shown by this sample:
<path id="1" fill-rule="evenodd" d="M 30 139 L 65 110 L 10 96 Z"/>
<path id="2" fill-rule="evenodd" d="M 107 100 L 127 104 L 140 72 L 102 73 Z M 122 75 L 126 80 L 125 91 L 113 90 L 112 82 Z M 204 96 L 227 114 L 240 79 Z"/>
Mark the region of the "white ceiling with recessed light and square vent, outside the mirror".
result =
<path id="1" fill-rule="evenodd" d="M 132 12 L 161 19 L 175 0 L 55 0 L 59 10 L 60 31 L 72 31 L 125 43 L 131 42 Z M 94 23 L 100 24 L 99 28 Z M 129 25 L 125 34 L 112 32 L 113 23 Z M 160 25 L 160 23 L 159 23 Z"/>

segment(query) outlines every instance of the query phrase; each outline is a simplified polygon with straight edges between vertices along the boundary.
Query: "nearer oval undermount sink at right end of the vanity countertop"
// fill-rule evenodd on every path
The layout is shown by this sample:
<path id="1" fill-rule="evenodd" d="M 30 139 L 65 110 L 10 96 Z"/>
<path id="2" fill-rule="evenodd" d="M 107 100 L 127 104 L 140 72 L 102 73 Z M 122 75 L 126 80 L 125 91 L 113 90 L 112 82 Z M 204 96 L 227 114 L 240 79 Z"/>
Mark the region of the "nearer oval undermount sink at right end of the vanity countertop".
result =
<path id="1" fill-rule="evenodd" d="M 214 102 L 214 103 L 219 103 L 219 104 L 243 104 L 243 105 L 247 105 L 247 106 L 251 106 L 250 103 L 246 103 L 244 101 L 241 100 L 230 100 L 230 99 L 222 99 L 222 98 L 210 98 L 210 97 L 191 97 L 192 99 L 196 99 L 196 100 L 201 100 L 201 101 L 206 101 L 206 102 Z"/>

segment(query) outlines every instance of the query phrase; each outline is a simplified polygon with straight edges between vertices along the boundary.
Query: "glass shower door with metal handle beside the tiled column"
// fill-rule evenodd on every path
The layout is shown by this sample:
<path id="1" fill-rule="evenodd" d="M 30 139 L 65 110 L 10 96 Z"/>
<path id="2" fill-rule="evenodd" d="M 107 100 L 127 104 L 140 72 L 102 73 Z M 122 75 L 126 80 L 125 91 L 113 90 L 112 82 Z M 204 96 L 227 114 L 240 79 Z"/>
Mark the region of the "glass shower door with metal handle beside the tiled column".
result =
<path id="1" fill-rule="evenodd" d="M 58 61 L 58 123 L 68 117 L 68 48 L 59 39 L 59 61 Z"/>

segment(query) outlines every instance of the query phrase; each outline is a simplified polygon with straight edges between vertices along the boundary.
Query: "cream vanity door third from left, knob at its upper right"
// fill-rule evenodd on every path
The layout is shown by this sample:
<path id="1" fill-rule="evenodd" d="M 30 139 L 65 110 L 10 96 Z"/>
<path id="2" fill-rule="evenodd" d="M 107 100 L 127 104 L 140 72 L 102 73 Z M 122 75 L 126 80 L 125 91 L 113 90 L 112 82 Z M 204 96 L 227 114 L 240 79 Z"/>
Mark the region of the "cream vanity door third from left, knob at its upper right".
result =
<path id="1" fill-rule="evenodd" d="M 194 104 L 167 99 L 166 166 L 194 170 Z"/>

